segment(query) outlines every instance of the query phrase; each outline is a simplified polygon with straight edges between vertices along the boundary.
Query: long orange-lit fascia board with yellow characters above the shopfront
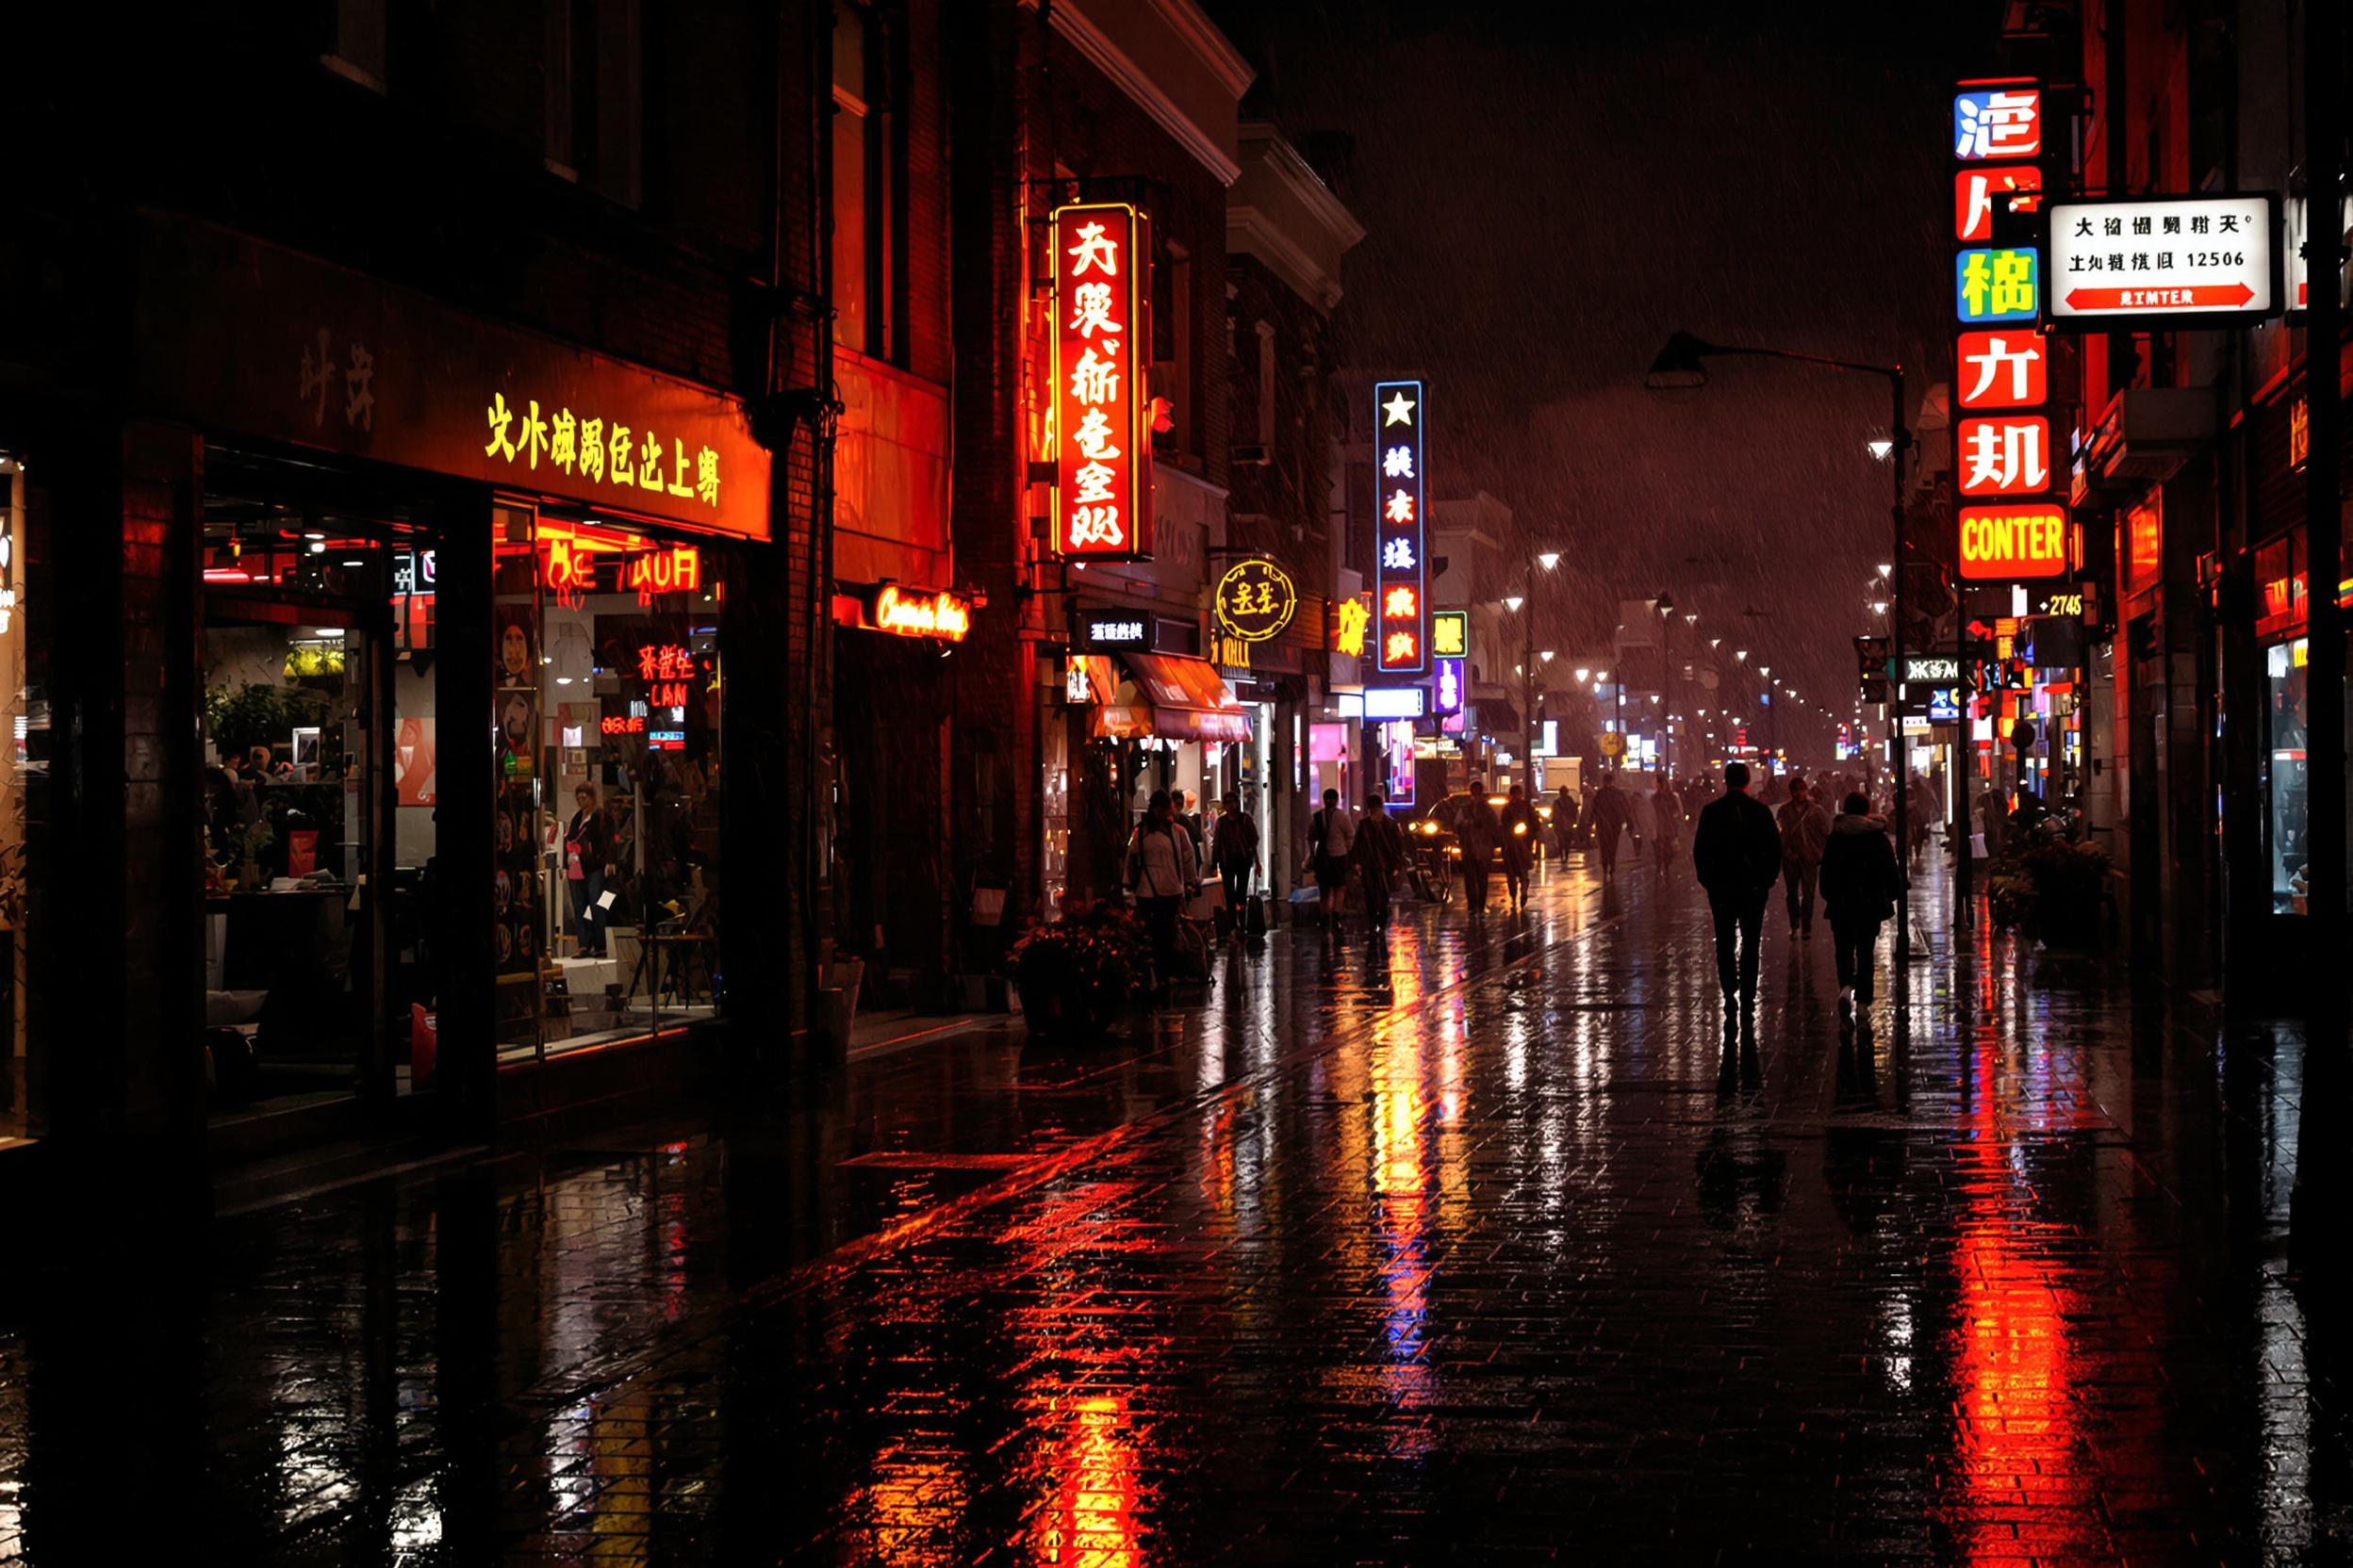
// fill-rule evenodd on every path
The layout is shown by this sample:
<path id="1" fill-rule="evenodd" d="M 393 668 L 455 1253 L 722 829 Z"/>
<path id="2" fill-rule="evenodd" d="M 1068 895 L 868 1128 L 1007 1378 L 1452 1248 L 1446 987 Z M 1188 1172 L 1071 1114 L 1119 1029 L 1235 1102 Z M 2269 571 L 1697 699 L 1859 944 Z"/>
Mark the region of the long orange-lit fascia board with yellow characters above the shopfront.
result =
<path id="1" fill-rule="evenodd" d="M 144 411 L 767 538 L 734 397 L 188 219 L 136 249 Z"/>

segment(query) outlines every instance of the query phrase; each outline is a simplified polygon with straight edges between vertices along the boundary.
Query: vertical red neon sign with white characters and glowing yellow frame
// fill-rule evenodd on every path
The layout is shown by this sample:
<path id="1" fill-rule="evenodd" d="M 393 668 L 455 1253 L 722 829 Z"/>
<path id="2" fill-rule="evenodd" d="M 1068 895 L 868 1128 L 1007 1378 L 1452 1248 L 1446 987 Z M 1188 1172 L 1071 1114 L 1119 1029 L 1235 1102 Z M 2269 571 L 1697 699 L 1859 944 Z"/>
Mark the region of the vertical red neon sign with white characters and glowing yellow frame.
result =
<path id="1" fill-rule="evenodd" d="M 1059 207 L 1052 247 L 1054 555 L 1146 559 L 1151 228 L 1118 202 Z"/>

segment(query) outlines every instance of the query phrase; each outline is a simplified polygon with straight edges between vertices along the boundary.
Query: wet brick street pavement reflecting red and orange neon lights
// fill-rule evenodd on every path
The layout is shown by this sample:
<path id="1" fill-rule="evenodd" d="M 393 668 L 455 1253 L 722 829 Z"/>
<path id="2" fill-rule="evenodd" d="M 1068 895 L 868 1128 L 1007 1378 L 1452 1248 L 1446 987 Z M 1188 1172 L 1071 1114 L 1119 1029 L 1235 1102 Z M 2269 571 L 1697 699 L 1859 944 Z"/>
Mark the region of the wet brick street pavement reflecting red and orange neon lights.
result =
<path id="1" fill-rule="evenodd" d="M 1727 1060 L 1699 891 L 1569 865 L 221 1220 L 0 1316 L 0 1556 L 2341 1561 L 2297 1032 L 1922 936 L 1840 1034 L 1769 933 Z"/>

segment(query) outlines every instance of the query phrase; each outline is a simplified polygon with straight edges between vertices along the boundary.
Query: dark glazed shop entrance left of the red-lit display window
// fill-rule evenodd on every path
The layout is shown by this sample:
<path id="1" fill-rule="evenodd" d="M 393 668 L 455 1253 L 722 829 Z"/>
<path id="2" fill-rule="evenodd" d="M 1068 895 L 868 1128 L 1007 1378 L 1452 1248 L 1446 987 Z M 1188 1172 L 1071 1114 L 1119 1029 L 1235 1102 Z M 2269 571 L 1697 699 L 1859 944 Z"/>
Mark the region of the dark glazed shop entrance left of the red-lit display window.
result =
<path id="1" fill-rule="evenodd" d="M 414 515 L 308 463 L 207 451 L 198 618 L 207 1110 L 414 1088 L 416 992 L 395 870 L 393 562 Z M 414 752 L 412 752 L 414 755 Z"/>

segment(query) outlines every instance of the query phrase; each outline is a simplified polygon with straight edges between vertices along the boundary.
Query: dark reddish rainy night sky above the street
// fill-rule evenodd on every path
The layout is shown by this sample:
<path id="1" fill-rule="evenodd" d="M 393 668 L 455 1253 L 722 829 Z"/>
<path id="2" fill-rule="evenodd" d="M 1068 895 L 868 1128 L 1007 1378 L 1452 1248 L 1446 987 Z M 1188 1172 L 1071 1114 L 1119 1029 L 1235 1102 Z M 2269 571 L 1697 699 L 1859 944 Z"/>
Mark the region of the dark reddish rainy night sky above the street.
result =
<path id="1" fill-rule="evenodd" d="M 1944 378 L 1960 7 L 1209 9 L 1259 63 L 1245 113 L 1367 228 L 1348 362 L 1424 371 L 1435 494 L 1482 487 L 1529 550 L 1567 555 L 1539 637 L 1602 654 L 1617 602 L 1664 588 L 1701 635 L 1852 705 L 1847 639 L 1889 552 L 1864 449 L 1885 383 L 1718 362 L 1704 390 L 1649 393 L 1642 371 L 1680 327 L 1901 357 L 1913 407 Z"/>

